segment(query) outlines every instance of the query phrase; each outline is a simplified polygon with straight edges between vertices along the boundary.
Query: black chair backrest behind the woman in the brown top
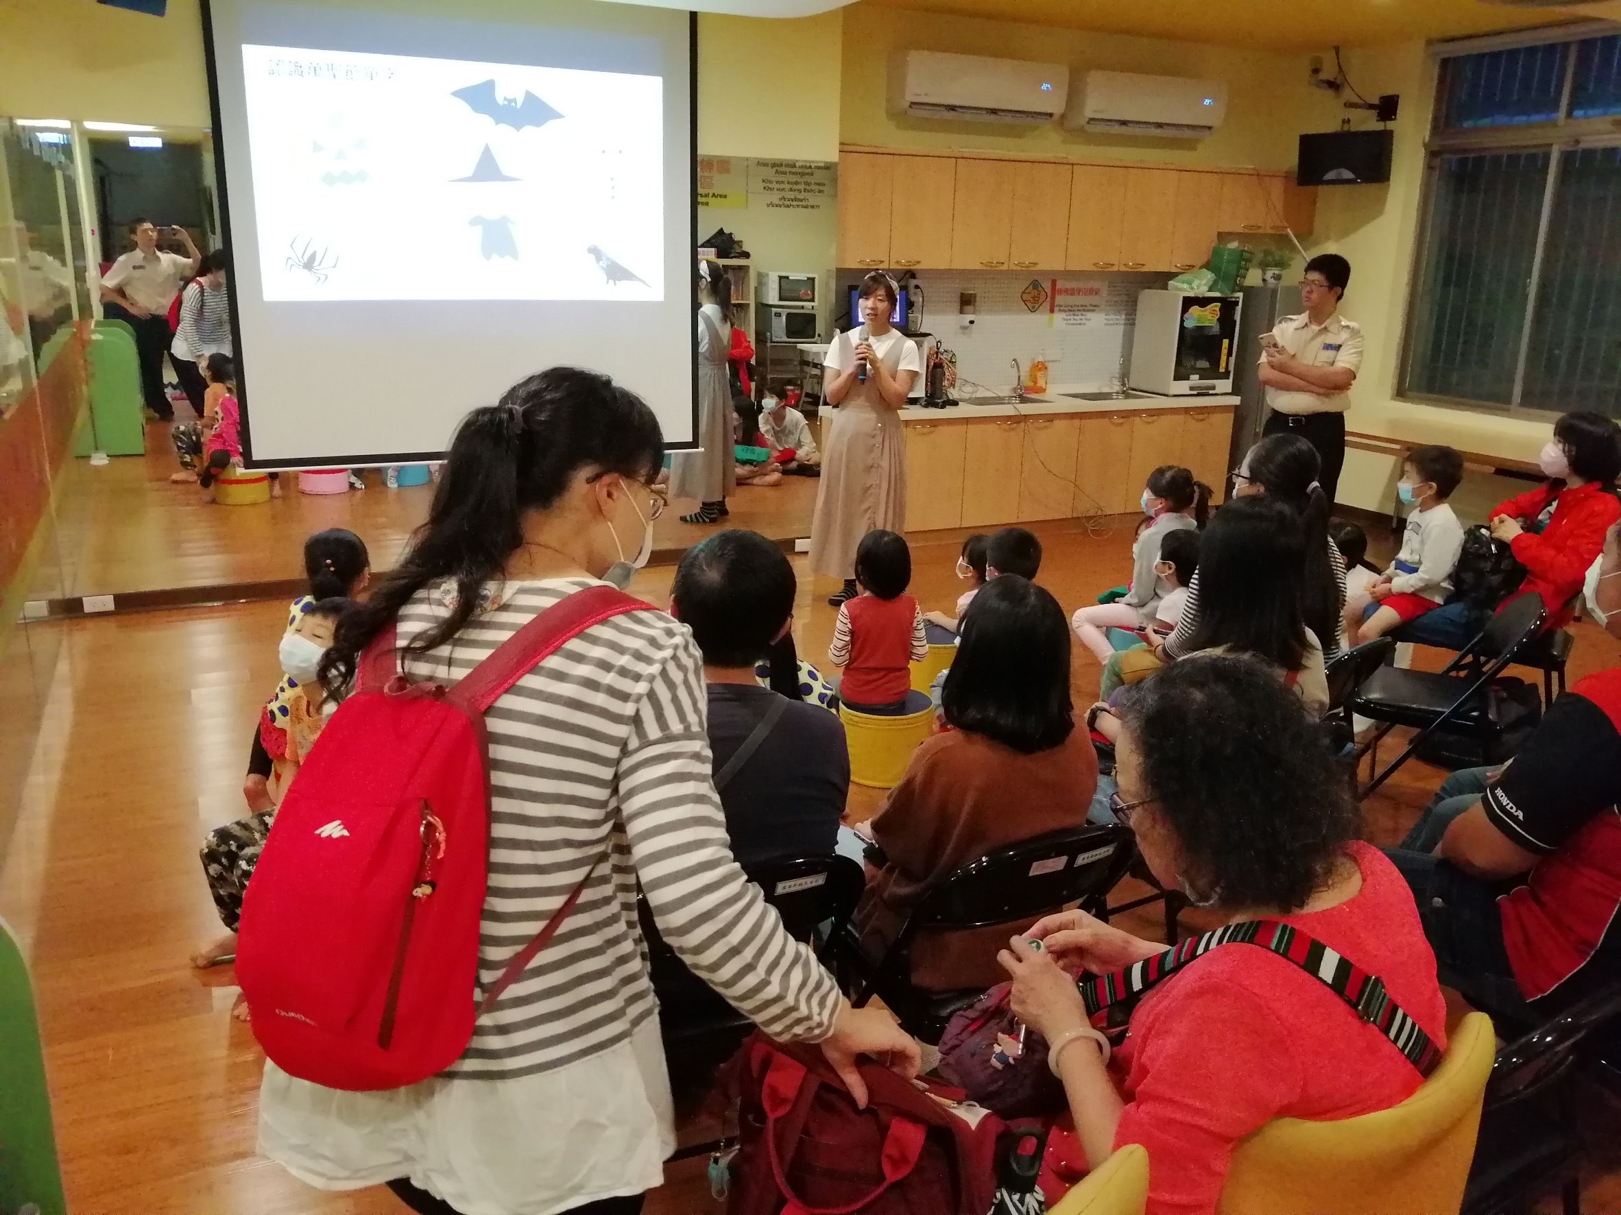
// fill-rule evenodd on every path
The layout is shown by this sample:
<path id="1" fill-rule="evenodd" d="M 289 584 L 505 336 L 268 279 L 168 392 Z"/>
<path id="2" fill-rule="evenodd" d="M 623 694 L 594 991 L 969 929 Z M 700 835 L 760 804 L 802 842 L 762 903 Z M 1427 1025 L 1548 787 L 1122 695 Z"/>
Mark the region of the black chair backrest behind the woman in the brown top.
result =
<path id="1" fill-rule="evenodd" d="M 1026 839 L 971 860 L 919 899 L 917 928 L 986 928 L 1033 920 L 1109 891 L 1131 863 L 1123 826 L 1075 826 Z M 900 941 L 896 941 L 900 943 Z"/>

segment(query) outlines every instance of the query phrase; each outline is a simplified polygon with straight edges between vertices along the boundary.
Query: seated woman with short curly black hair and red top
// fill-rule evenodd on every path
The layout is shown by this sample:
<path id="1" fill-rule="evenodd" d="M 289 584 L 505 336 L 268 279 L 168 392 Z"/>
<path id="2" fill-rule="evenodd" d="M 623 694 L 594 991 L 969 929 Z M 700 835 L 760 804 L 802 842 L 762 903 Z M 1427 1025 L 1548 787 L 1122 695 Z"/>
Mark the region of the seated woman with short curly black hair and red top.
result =
<path id="1" fill-rule="evenodd" d="M 1357 805 L 1323 732 L 1266 666 L 1175 663 L 1127 706 L 1115 763 L 1115 813 L 1165 889 L 1187 894 L 1211 923 L 1281 920 L 1305 933 L 1378 977 L 1446 1048 L 1446 1004 L 1412 893 L 1360 842 Z M 1319 978 L 1242 941 L 1195 956 L 1130 1006 L 1110 1055 L 1076 975 L 1110 975 L 1164 949 L 1071 910 L 1000 954 L 1013 1011 L 1046 1038 L 1063 1081 L 1084 1163 L 1146 1147 L 1151 1212 L 1216 1210 L 1234 1145 L 1274 1118 L 1355 1118 L 1418 1089 L 1409 1056 L 1329 987 L 1332 970 Z M 1115 982 L 1136 988 L 1144 977 Z"/>

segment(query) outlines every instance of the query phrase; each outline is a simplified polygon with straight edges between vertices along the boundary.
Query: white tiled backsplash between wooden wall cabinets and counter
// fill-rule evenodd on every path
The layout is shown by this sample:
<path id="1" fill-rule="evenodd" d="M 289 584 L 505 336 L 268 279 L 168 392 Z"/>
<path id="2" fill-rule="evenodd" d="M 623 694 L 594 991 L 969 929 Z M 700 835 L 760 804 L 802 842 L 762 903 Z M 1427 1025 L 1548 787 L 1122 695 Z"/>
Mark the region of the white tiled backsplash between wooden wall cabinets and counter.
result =
<path id="1" fill-rule="evenodd" d="M 1013 386 L 1010 360 L 1047 363 L 1052 384 L 1107 384 L 1131 358 L 1136 295 L 1164 287 L 1164 274 L 1031 274 L 1015 271 L 919 271 L 924 309 L 911 327 L 956 352 L 960 379 L 999 392 Z M 840 282 L 854 280 L 840 272 Z M 958 314 L 973 292 L 974 324 Z"/>

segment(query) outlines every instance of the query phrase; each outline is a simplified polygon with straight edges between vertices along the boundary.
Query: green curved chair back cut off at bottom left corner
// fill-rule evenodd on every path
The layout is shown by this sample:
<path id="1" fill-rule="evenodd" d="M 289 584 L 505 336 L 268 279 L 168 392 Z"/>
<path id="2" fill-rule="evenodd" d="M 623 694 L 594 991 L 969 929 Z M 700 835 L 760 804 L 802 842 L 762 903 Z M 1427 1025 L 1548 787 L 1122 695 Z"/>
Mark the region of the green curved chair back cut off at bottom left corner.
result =
<path id="1" fill-rule="evenodd" d="M 50 1126 L 45 1056 L 28 962 L 0 920 L 0 1210 L 28 1204 L 65 1215 L 57 1137 Z"/>

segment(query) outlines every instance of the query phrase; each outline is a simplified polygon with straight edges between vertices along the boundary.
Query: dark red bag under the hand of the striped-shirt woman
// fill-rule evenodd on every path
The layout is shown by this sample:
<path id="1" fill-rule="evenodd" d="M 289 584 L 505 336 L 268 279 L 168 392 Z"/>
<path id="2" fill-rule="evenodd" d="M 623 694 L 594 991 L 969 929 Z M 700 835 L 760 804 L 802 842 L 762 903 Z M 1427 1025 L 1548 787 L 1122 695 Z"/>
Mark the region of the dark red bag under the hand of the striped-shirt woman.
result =
<path id="1" fill-rule="evenodd" d="M 971 1124 L 875 1063 L 858 1110 L 815 1047 L 755 1034 L 734 1059 L 742 1108 L 726 1215 L 986 1215 L 995 1199 L 994 1113 Z M 932 1089 L 940 1098 L 961 1094 Z"/>

